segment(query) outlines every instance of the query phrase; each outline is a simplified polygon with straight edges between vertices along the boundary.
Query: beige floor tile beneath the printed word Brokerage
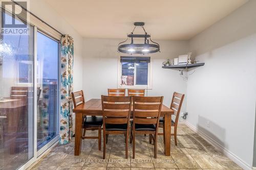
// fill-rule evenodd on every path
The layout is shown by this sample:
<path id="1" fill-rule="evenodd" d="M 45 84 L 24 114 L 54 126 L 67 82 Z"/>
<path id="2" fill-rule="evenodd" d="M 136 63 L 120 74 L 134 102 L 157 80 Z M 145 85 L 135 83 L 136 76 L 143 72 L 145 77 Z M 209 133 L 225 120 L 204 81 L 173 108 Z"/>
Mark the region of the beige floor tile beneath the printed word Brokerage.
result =
<path id="1" fill-rule="evenodd" d="M 152 155 L 152 158 L 154 155 Z M 158 154 L 157 159 L 154 158 L 155 168 L 178 168 L 171 156 Z"/>

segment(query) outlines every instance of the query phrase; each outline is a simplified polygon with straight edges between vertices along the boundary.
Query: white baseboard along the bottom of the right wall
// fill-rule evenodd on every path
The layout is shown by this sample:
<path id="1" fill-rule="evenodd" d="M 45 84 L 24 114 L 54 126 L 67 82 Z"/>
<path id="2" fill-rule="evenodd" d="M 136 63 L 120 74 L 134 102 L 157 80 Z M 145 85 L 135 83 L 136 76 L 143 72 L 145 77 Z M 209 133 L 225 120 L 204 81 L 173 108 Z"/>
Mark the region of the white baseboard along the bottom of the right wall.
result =
<path id="1" fill-rule="evenodd" d="M 209 142 L 211 145 L 213 145 L 216 149 L 220 150 L 224 155 L 226 155 L 229 159 L 237 163 L 240 167 L 246 170 L 253 169 L 250 165 L 245 163 L 242 159 L 240 159 L 237 155 L 234 155 L 232 152 L 228 151 L 226 148 L 222 147 L 218 142 L 216 142 L 214 139 L 210 138 L 203 132 L 199 131 L 196 127 L 189 124 L 188 122 L 185 123 L 191 130 L 196 132 L 199 136 L 201 136 L 204 140 Z M 254 167 L 255 168 L 255 167 Z M 256 170 L 256 169 L 255 169 Z"/>

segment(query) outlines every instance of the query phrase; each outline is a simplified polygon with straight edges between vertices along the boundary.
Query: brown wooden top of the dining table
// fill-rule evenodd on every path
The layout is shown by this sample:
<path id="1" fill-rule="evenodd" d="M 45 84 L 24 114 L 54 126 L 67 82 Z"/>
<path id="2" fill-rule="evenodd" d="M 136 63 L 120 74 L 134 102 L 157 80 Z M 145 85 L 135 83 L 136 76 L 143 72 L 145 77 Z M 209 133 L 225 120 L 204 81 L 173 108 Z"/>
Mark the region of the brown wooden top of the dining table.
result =
<path id="1" fill-rule="evenodd" d="M 101 99 L 91 99 L 73 109 L 74 113 L 82 113 L 85 115 L 102 115 Z M 161 115 L 174 114 L 169 107 L 162 105 Z"/>

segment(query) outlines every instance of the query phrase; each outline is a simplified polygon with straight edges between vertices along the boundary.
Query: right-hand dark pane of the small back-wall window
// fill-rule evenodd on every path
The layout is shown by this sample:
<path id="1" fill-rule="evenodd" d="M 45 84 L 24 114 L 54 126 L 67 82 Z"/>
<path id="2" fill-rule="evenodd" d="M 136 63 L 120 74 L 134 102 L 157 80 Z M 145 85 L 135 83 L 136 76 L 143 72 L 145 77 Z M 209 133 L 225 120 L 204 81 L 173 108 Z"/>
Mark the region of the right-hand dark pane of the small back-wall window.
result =
<path id="1" fill-rule="evenodd" d="M 147 85 L 148 63 L 136 63 L 136 85 Z"/>

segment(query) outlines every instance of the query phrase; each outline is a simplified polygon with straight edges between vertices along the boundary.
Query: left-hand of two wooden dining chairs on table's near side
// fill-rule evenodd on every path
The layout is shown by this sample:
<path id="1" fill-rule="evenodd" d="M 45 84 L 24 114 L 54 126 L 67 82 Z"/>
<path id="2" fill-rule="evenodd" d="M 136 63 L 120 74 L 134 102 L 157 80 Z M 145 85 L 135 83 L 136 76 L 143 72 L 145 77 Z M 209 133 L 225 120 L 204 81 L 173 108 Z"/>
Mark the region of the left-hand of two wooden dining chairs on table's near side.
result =
<path id="1" fill-rule="evenodd" d="M 109 134 L 124 134 L 125 158 L 127 159 L 132 97 L 101 95 L 101 104 L 103 112 L 103 159 L 105 159 L 106 142 Z"/>

